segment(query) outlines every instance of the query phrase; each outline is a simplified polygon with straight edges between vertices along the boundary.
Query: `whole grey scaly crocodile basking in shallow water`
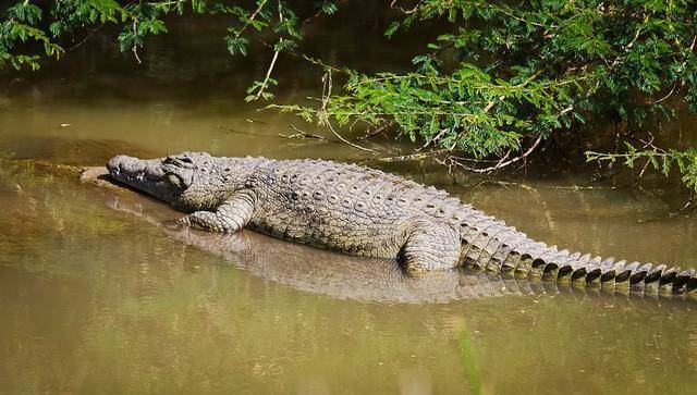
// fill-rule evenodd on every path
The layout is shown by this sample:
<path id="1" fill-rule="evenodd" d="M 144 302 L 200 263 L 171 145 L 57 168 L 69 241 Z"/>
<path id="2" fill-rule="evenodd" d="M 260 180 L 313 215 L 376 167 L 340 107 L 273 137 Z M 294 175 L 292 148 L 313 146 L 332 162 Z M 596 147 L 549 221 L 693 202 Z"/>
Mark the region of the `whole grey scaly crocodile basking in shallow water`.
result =
<path id="1" fill-rule="evenodd" d="M 112 178 L 188 214 L 182 225 L 244 227 L 350 255 L 396 259 L 409 275 L 457 267 L 661 293 L 697 289 L 697 271 L 603 259 L 529 238 L 447 192 L 357 164 L 184 152 L 117 156 Z"/>

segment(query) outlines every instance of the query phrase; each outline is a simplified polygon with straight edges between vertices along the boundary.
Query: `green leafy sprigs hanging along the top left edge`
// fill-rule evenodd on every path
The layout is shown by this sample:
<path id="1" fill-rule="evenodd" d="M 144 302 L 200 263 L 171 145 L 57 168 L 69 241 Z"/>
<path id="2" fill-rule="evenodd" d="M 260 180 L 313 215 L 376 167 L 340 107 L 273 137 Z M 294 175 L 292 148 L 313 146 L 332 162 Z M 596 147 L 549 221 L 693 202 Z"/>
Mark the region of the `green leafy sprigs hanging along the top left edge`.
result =
<path id="1" fill-rule="evenodd" d="M 332 14 L 338 10 L 332 1 L 319 1 L 315 7 L 318 13 Z M 38 70 L 42 54 L 58 59 L 64 53 L 61 42 L 66 36 L 103 24 L 122 27 L 119 48 L 133 51 L 139 61 L 137 51 L 147 37 L 167 33 L 163 17 L 185 12 L 233 16 L 224 37 L 232 54 L 247 54 L 250 32 L 268 30 L 276 35 L 274 51 L 292 50 L 302 37 L 298 17 L 281 0 L 257 0 L 249 9 L 224 0 L 22 0 L 7 10 L 0 24 L 0 67 L 10 64 L 17 70 L 23 66 Z M 44 53 L 30 41 L 42 45 Z"/>

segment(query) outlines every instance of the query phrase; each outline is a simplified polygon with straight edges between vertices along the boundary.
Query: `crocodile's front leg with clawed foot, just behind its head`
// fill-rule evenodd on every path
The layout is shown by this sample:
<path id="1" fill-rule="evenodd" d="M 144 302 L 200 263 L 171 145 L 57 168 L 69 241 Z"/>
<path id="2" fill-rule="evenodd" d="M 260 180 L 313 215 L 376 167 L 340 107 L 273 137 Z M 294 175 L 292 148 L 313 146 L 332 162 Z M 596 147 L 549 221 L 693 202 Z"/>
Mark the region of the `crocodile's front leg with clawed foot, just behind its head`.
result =
<path id="1" fill-rule="evenodd" d="M 246 226 L 254 213 L 254 198 L 248 193 L 236 193 L 216 211 L 195 211 L 180 224 L 220 233 L 234 233 Z"/>

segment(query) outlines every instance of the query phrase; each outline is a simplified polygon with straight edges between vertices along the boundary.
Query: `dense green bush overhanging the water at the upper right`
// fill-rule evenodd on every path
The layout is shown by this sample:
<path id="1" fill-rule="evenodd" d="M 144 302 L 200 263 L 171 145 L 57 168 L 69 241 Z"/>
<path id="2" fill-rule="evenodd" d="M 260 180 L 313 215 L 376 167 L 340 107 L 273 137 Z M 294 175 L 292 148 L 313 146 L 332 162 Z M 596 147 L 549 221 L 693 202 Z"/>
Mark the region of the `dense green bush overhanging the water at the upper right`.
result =
<path id="1" fill-rule="evenodd" d="M 453 158 L 463 156 L 499 160 L 478 169 L 485 171 L 514 163 L 508 158 L 526 145 L 515 159 L 540 138 L 564 138 L 585 122 L 610 119 L 640 127 L 671 118 L 665 100 L 672 95 L 697 110 L 692 1 L 424 0 L 411 9 L 401 3 L 408 2 L 393 5 L 404 16 L 390 24 L 388 37 L 428 20 L 452 25 L 429 52 L 414 58 L 413 72 L 343 71 L 344 91 L 318 99 L 318 107 L 282 109 L 320 124 L 394 124 L 432 152 L 445 150 L 451 163 L 462 164 Z M 592 152 L 588 158 L 599 159 Z M 672 150 L 661 158 L 687 163 L 693 157 Z M 680 170 L 694 186 L 689 166 Z"/>

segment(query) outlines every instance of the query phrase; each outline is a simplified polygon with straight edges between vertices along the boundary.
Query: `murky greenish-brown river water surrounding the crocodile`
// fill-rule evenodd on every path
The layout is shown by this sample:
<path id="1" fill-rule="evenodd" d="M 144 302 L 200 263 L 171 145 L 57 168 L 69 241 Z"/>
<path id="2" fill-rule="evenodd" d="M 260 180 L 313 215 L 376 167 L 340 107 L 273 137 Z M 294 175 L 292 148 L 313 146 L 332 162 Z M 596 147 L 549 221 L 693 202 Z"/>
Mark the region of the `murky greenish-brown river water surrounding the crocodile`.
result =
<path id="1" fill-rule="evenodd" d="M 320 23 L 309 50 L 363 67 L 404 64 L 413 37 L 390 46 L 362 39 L 356 48 L 355 32 L 369 37 L 382 23 L 379 15 Z M 122 152 L 208 150 L 366 159 L 341 144 L 279 137 L 294 133 L 291 123 L 317 131 L 242 102 L 268 57 L 231 60 L 223 29 L 210 21 L 175 24 L 139 66 L 115 52 L 113 37 L 98 35 L 64 63 L 5 74 L 2 158 L 94 165 Z M 319 88 L 320 73 L 303 64 L 286 60 L 281 72 L 282 100 Z M 685 128 L 681 138 L 694 138 L 693 121 L 675 126 Z M 676 189 L 610 188 L 564 169 L 476 187 L 452 185 L 435 166 L 390 170 L 445 187 L 549 243 L 695 261 L 697 219 L 668 215 Z M 414 282 L 388 262 L 248 232 L 172 231 L 158 225 L 176 217 L 163 205 L 5 159 L 0 208 L 0 393 L 697 390 L 695 304 L 541 294 L 457 275 Z"/>

